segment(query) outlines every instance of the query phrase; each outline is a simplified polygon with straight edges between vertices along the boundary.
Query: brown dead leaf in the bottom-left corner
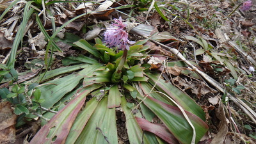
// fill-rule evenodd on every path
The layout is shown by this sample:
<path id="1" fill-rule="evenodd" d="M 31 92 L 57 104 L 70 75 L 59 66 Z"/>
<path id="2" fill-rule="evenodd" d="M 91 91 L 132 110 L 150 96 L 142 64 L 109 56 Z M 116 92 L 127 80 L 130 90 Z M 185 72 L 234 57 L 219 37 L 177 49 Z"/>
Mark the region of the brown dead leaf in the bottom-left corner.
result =
<path id="1" fill-rule="evenodd" d="M 17 116 L 13 113 L 10 102 L 0 103 L 0 143 L 14 143 Z"/>

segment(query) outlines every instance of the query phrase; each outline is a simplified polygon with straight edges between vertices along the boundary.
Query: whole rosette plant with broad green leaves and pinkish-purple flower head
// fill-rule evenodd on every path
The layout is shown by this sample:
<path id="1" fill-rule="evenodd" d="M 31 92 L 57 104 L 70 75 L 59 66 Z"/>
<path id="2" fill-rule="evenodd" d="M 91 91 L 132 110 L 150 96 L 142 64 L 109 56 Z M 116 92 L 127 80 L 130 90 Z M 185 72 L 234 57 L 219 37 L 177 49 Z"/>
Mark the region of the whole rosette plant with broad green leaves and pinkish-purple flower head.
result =
<path id="1" fill-rule="evenodd" d="M 99 38 L 95 44 L 74 42 L 88 56 L 66 58 L 63 61 L 72 66 L 41 77 L 76 70 L 38 86 L 45 99 L 41 106 L 59 107 L 56 115 L 44 113 L 52 118 L 30 143 L 118 143 L 120 114 L 129 143 L 198 143 L 208 131 L 200 106 L 143 62 L 147 40 L 129 41 L 122 19 L 115 22 L 107 29 L 105 42 Z M 75 65 L 78 62 L 83 63 Z"/>

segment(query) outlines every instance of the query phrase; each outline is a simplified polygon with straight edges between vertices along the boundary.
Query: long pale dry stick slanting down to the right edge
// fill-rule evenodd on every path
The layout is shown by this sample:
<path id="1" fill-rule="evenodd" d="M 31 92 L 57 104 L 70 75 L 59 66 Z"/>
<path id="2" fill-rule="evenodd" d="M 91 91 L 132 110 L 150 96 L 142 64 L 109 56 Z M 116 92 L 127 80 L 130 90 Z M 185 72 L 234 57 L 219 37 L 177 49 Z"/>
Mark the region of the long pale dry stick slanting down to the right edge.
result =
<path id="1" fill-rule="evenodd" d="M 218 81 L 215 81 L 214 79 L 212 79 L 212 77 L 208 76 L 207 74 L 205 74 L 204 72 L 199 70 L 197 67 L 192 65 L 188 60 L 186 60 L 186 58 L 184 58 L 184 56 L 182 56 L 182 54 L 180 54 L 180 52 L 177 49 L 173 49 L 171 47 L 168 47 L 164 44 L 161 44 L 160 42 L 156 42 L 155 40 L 151 40 L 151 41 L 154 42 L 155 44 L 161 45 L 165 49 L 171 51 L 180 60 L 184 61 L 187 65 L 189 65 L 189 67 L 191 67 L 193 70 L 195 70 L 195 72 L 200 74 L 200 76 L 204 77 L 204 79 L 206 81 L 208 81 L 208 83 L 211 83 L 212 86 L 217 88 L 220 92 L 225 93 L 224 89 L 222 88 L 221 84 L 218 83 Z M 248 115 L 252 119 L 252 121 L 256 124 L 256 113 L 255 113 L 255 111 L 253 111 L 249 106 L 247 106 L 241 99 L 237 99 L 236 97 L 230 95 L 230 93 L 227 93 L 227 96 L 228 96 L 229 99 L 233 100 L 233 102 L 237 106 L 239 106 L 239 108 L 241 108 L 244 111 L 244 113 L 246 113 L 246 115 Z"/>

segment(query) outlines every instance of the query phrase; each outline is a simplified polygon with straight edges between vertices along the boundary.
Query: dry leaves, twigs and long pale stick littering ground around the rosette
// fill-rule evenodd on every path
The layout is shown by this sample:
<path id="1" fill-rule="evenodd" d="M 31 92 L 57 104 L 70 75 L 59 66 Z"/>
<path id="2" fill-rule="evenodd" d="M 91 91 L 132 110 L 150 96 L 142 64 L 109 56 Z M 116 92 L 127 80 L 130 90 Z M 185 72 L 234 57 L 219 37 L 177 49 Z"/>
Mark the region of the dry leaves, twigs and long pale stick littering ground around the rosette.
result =
<path id="1" fill-rule="evenodd" d="M 35 11 L 39 11 L 38 16 L 42 26 L 50 36 L 68 20 L 84 13 L 79 19 L 68 23 L 54 37 L 54 44 L 60 50 L 50 50 L 52 61 L 49 69 L 65 67 L 63 61 L 61 63 L 62 59 L 74 60 L 73 62 L 76 63 L 79 61 L 76 56 L 81 56 L 80 54 L 88 56 L 87 51 L 74 49 L 73 43 L 81 38 L 89 42 L 93 42 L 96 37 L 104 38 L 103 32 L 113 23 L 113 19 L 122 17 L 132 41 L 153 35 L 151 41 L 148 40 L 145 44 L 150 47 L 148 53 L 150 58 L 144 60 L 150 64 L 149 69 L 163 72 L 166 81 L 188 93 L 204 109 L 209 132 L 199 143 L 255 143 L 256 1 L 251 1 L 250 10 L 242 8 L 232 13 L 244 2 L 183 0 L 141 3 L 137 0 L 106 0 L 85 3 L 82 1 L 53 3 L 42 6 L 40 10 L 35 8 Z M 10 3 L 12 1 L 0 1 L 1 14 Z M 22 27 L 20 21 L 24 16 L 26 3 L 28 1 L 19 1 L 0 20 L 2 64 L 8 63 L 10 58 L 13 40 Z M 150 8 L 151 5 L 153 6 L 152 3 L 157 3 L 162 13 Z M 128 6 L 131 4 L 133 7 Z M 134 6 L 137 7 L 133 10 Z M 129 13 L 131 10 L 132 13 Z M 232 15 L 229 15 L 230 13 Z M 49 52 L 47 44 L 50 36 L 44 35 L 44 31 L 36 22 L 36 16 L 31 15 L 24 28 L 22 42 L 17 49 L 15 70 L 19 72 L 18 84 L 33 83 L 35 81 L 33 78 L 45 71 L 44 58 L 45 51 Z M 169 63 L 166 64 L 166 61 Z M 9 81 L 0 81 L 0 84 L 0 88 L 11 87 Z M 2 105 L 6 106 L 1 107 Z M 13 113 L 10 104 L 4 102 L 3 98 L 1 106 L 0 115 L 6 115 L 4 111 L 7 110 Z M 15 141 L 13 120 L 16 117 L 11 116 L 12 121 L 1 120 L 1 125 L 4 126 L 0 129 L 3 138 L 1 143 Z M 118 143 L 129 143 L 127 130 L 122 128 L 125 127 L 125 116 L 123 113 L 117 116 Z M 143 120 L 139 122 L 145 124 Z M 147 131 L 149 128 L 145 125 L 141 129 Z M 149 125 L 163 127 L 160 124 Z M 7 133 L 6 129 L 10 129 L 8 130 L 10 132 Z M 29 140 L 34 136 L 33 132 L 28 132 L 27 135 Z M 23 140 L 26 139 L 27 136 L 24 136 Z"/>

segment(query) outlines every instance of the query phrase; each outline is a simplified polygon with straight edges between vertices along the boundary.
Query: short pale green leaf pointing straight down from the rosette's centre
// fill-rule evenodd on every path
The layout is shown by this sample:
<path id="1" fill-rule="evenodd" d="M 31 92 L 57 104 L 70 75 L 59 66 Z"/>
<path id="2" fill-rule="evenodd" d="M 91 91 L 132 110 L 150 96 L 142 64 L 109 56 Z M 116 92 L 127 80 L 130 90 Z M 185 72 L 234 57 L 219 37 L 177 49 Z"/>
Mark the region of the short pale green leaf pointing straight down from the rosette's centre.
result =
<path id="1" fill-rule="evenodd" d="M 108 108 L 119 107 L 121 104 L 122 94 L 118 90 L 118 85 L 115 84 L 109 90 L 108 94 Z"/>

